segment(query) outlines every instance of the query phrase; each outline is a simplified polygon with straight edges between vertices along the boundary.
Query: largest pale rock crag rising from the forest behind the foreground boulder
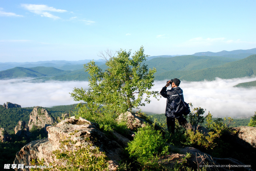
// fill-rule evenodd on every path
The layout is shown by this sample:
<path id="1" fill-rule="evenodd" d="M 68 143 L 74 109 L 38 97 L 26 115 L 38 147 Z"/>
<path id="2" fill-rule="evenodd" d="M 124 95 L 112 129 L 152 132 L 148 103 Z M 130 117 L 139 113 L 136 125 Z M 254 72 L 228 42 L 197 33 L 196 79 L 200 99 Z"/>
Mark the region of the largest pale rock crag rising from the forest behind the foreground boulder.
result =
<path id="1" fill-rule="evenodd" d="M 51 113 L 46 109 L 41 108 L 39 106 L 34 107 L 33 111 L 29 115 L 28 127 L 29 130 L 33 128 L 44 128 L 46 131 L 46 127 L 51 126 L 56 123 L 55 118 L 52 117 Z"/>

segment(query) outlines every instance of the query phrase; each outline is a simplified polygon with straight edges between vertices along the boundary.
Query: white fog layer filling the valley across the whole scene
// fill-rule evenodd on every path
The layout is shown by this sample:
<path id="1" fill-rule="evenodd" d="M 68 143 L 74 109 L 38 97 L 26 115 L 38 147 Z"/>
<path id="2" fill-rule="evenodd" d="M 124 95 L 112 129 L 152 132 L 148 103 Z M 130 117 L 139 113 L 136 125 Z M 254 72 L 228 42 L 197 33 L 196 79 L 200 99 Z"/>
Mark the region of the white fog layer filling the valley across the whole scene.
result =
<path id="1" fill-rule="evenodd" d="M 73 101 L 70 94 L 74 87 L 87 88 L 86 81 L 49 81 L 44 83 L 24 82 L 24 79 L 1 80 L 0 104 L 12 102 L 22 107 L 51 107 L 56 105 L 70 105 Z M 184 99 L 194 107 L 210 111 L 214 117 L 250 117 L 256 111 L 256 88 L 233 87 L 238 83 L 255 81 L 254 78 L 219 79 L 215 81 L 186 82 L 182 81 Z M 166 81 L 155 81 L 152 90 L 161 91 Z M 170 89 L 168 87 L 167 89 Z M 160 97 L 159 97 L 160 98 Z M 157 101 L 151 98 L 151 103 L 141 107 L 143 111 L 164 113 L 166 99 Z"/>

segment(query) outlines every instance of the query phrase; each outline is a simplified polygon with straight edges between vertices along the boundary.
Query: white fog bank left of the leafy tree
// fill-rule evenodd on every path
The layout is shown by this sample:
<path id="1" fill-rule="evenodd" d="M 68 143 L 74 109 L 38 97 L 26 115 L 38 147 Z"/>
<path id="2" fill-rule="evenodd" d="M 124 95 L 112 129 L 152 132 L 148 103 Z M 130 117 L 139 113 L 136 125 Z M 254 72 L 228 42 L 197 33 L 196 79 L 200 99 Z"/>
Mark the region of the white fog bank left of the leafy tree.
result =
<path id="1" fill-rule="evenodd" d="M 23 80 L 1 80 L 0 104 L 8 101 L 22 107 L 70 105 L 77 103 L 69 94 L 73 88 L 88 87 L 88 82 L 80 81 L 32 83 Z"/>

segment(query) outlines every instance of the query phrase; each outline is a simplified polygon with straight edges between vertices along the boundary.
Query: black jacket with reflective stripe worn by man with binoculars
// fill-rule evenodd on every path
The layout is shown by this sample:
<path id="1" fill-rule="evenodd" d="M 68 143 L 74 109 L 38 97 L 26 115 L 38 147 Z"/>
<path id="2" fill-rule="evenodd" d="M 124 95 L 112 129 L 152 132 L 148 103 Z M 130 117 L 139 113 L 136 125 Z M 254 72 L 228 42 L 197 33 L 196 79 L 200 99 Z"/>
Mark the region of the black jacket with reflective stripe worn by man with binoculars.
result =
<path id="1" fill-rule="evenodd" d="M 175 90 L 180 94 L 180 97 L 184 101 L 183 97 L 183 91 L 180 87 L 174 87 Z M 175 92 L 174 88 L 170 90 L 166 90 L 167 87 L 164 86 L 160 92 L 160 94 L 167 98 L 166 101 L 166 109 L 165 109 L 165 116 L 171 117 L 171 118 L 178 118 L 182 116 L 182 110 L 184 108 L 184 104 L 179 98 L 179 95 Z"/>

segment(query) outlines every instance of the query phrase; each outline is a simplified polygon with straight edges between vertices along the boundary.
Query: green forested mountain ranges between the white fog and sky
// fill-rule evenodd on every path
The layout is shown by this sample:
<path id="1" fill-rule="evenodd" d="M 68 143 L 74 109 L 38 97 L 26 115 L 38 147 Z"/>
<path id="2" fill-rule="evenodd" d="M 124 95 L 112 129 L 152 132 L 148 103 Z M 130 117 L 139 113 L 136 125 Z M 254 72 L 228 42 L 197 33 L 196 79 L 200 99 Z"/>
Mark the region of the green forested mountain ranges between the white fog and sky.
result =
<path id="1" fill-rule="evenodd" d="M 249 52 L 256 51 L 256 48 Z M 222 51 L 223 52 L 223 51 Z M 221 52 L 221 53 L 222 53 Z M 233 54 L 223 56 L 207 55 L 182 55 L 182 56 L 151 56 L 151 59 L 145 61 L 148 68 L 155 67 L 157 72 L 154 74 L 156 80 L 165 80 L 170 78 L 179 78 L 186 81 L 214 80 L 216 77 L 223 79 L 250 77 L 256 75 L 256 54 L 247 56 L 248 50 L 230 51 Z M 210 52 L 213 53 L 213 52 Z M 209 53 L 209 54 L 210 54 Z M 239 53 L 239 54 L 234 54 Z M 214 53 L 215 54 L 215 53 Z M 45 65 L 37 67 L 14 67 L 5 71 L 0 71 L 0 79 L 13 79 L 31 77 L 35 81 L 88 81 L 89 74 L 84 72 L 82 64 L 71 64 L 70 61 L 54 61 L 54 63 L 42 64 L 24 64 L 26 66 Z M 89 62 L 83 60 L 80 62 Z M 78 63 L 78 61 L 74 62 Z M 107 66 L 103 62 L 95 62 L 103 71 Z M 3 63 L 2 63 L 3 64 Z M 64 64 L 64 65 L 59 65 Z M 1 65 L 1 64 L 0 64 Z M 56 67 L 49 67 L 57 65 Z M 243 84 L 244 85 L 244 84 Z M 256 86 L 255 82 L 247 84 Z"/>

